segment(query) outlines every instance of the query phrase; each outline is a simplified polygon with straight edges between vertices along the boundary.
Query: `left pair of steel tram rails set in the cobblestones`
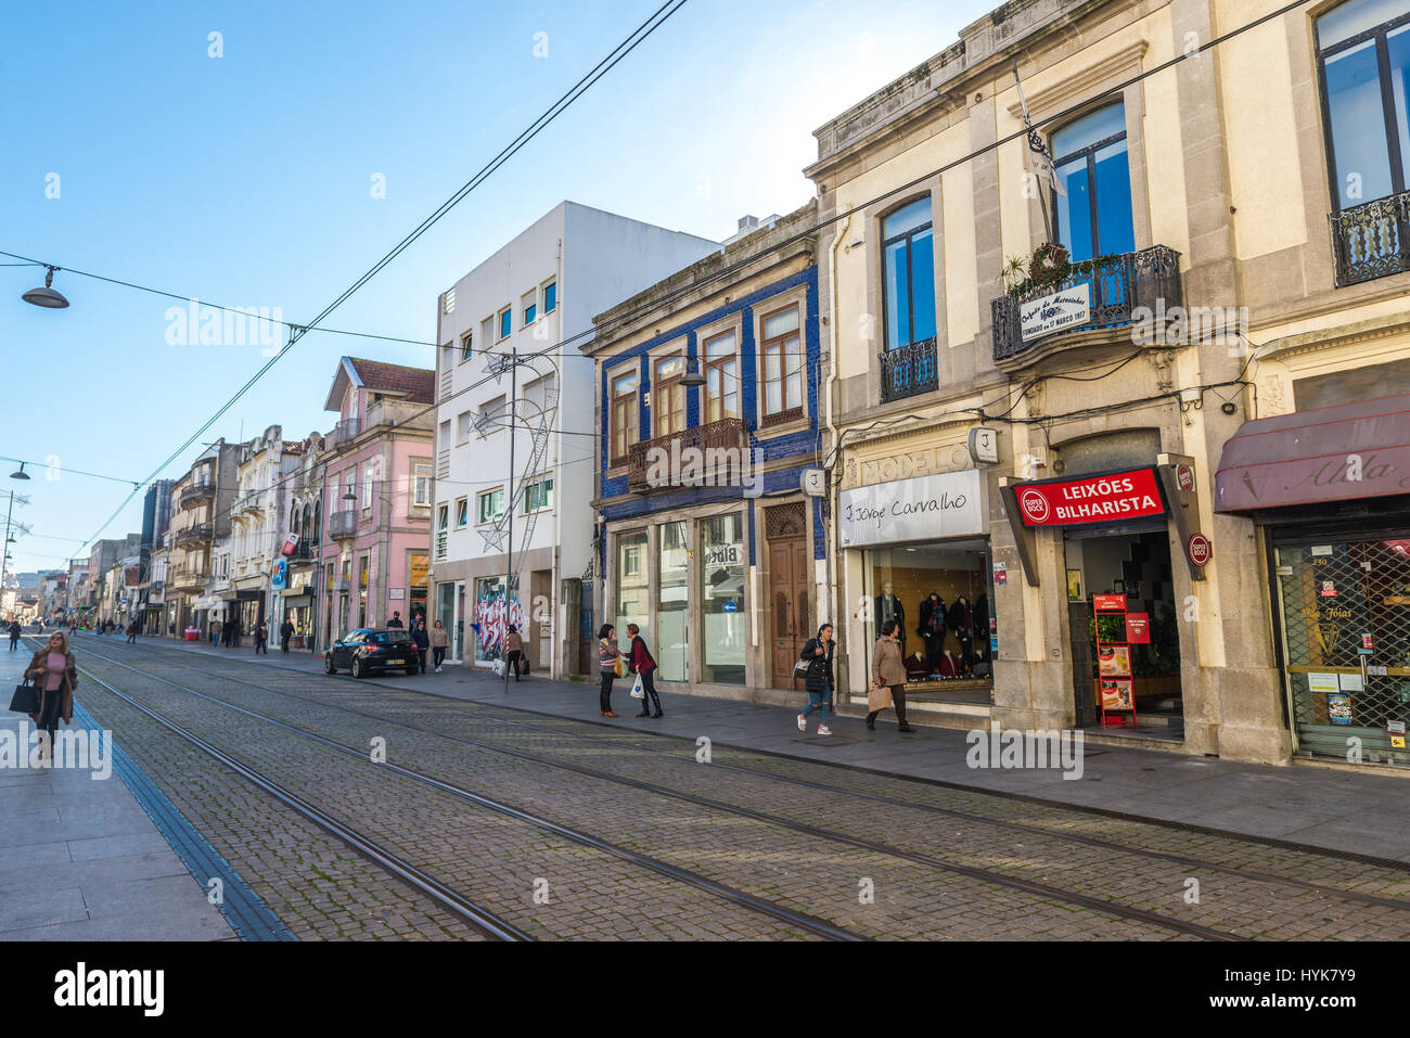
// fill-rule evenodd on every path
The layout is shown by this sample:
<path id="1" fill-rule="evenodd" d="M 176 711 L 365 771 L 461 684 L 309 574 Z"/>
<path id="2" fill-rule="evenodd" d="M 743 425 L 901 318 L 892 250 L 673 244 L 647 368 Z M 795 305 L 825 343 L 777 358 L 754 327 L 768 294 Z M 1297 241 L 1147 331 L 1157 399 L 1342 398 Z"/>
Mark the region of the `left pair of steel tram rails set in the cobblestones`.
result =
<path id="1" fill-rule="evenodd" d="M 313 740 L 313 742 L 316 742 L 319 745 L 323 745 L 323 746 L 326 746 L 329 749 L 333 749 L 333 750 L 350 755 L 350 756 L 355 757 L 360 762 L 367 763 L 369 760 L 368 759 L 368 753 L 364 749 L 360 749 L 360 747 L 355 747 L 355 746 L 347 746 L 345 743 L 340 743 L 336 739 L 330 739 L 330 738 L 327 738 L 324 735 L 320 735 L 317 732 L 300 728 L 298 725 L 290 725 L 290 723 L 285 722 L 285 721 L 281 721 L 278 718 L 271 718 L 271 716 L 268 716 L 265 714 L 259 714 L 258 711 L 251 711 L 248 708 L 240 707 L 238 704 L 233 704 L 233 702 L 220 700 L 219 697 L 213 697 L 213 695 L 200 692 L 199 690 L 188 688 L 185 685 L 180 685 L 179 683 L 171 681 L 169 678 L 164 678 L 159 674 L 152 674 L 152 673 L 144 671 L 144 670 L 141 670 L 138 667 L 131 667 L 130 664 L 125 664 L 121 660 L 114 660 L 113 657 L 103 656 L 102 653 L 87 652 L 86 654 L 93 656 L 93 657 L 100 659 L 100 660 L 104 660 L 107 663 L 113 663 L 116 666 L 124 667 L 124 668 L 131 670 L 131 671 L 134 671 L 137 674 L 141 674 L 141 676 L 144 676 L 144 677 L 147 677 L 149 680 L 161 681 L 164 684 L 169 684 L 169 685 L 172 685 L 175 688 L 179 688 L 183 692 L 188 692 L 188 694 L 196 695 L 196 697 L 199 697 L 202 700 L 206 700 L 206 701 L 210 701 L 210 702 L 227 707 L 230 709 L 234 709 L 234 711 L 237 711 L 240 714 L 244 714 L 244 715 L 247 715 L 250 718 L 254 718 L 257 721 L 261 721 L 264 723 L 274 725 L 274 726 L 276 726 L 276 728 L 279 728 L 282 731 L 286 731 L 286 732 L 289 732 L 292 735 L 298 735 L 298 736 L 302 736 L 305 739 Z M 268 793 L 269 795 L 275 797 L 281 804 L 285 804 L 286 807 L 289 807 L 290 810 L 293 810 L 298 814 L 303 815 L 309 821 L 313 821 L 314 824 L 320 825 L 326 831 L 329 831 L 333 835 L 338 836 L 340 839 L 345 841 L 348 843 L 348 846 L 351 846 L 354 850 L 357 850 L 358 853 L 361 853 L 361 855 L 364 855 L 367 857 L 369 857 L 371 860 L 374 860 L 375 863 L 378 863 L 379 866 L 382 866 L 384 869 L 386 869 L 391 874 L 393 874 L 393 876 L 396 876 L 396 877 L 407 881 L 409 884 L 412 884 L 413 887 L 416 887 L 422 893 L 426 893 L 433 900 L 436 900 L 437 903 L 440 903 L 441 905 L 444 905 L 446 908 L 448 908 L 450 911 L 453 911 L 458 917 L 464 918 L 467 922 L 470 922 L 472 927 L 475 927 L 481 932 L 485 932 L 489 936 L 494 936 L 494 938 L 498 938 L 498 939 L 505 939 L 505 941 L 532 941 L 532 939 L 534 939 L 532 935 L 529 935 L 527 932 L 525 932 L 523 929 L 520 929 L 515 924 L 509 922 L 503 917 L 501 917 L 501 915 L 489 911 L 488 908 L 485 908 L 484 905 L 481 905 L 478 903 L 474 903 L 474 901 L 465 898 L 464 896 L 458 894 L 457 891 L 451 890 L 446 884 L 440 883 L 439 880 L 436 880 L 434 877 L 431 877 L 426 872 L 417 869 L 405 856 L 392 852 L 391 849 L 385 848 L 378 841 L 375 841 L 374 838 L 371 838 L 367 834 L 361 832 L 360 829 L 354 828 L 352 825 L 337 819 L 336 817 L 333 817 L 327 811 L 323 811 L 321 808 L 319 808 L 319 807 L 310 804 L 309 801 L 303 800 L 302 797 L 299 797 L 292 790 L 288 790 L 286 787 L 283 787 L 281 783 L 275 781 L 274 778 L 262 774 L 261 771 L 258 771 L 257 769 L 245 764 L 244 762 L 237 760 L 235 757 L 233 757 L 231 755 L 226 753 L 224 750 L 221 750 L 219 746 L 216 746 L 214 743 L 209 742 L 207 739 L 203 739 L 202 736 L 196 735 L 195 732 L 186 729 L 183 725 L 180 725 L 180 723 L 175 722 L 175 721 L 164 716 L 159 711 L 155 711 L 151 707 L 140 702 L 134 697 L 128 695 L 127 692 L 124 692 L 120 688 L 117 688 L 116 685 L 113 685 L 110 681 L 106 681 L 103 677 L 100 677 L 99 674 L 96 674 L 92 668 L 89 668 L 89 667 L 79 667 L 79 671 L 83 673 L 83 674 L 86 674 L 90 680 L 93 680 L 104 691 L 107 691 L 107 692 L 116 695 L 117 698 L 123 700 L 130 707 L 138 709 L 141 714 L 144 714 L 145 716 L 148 716 L 152 721 L 155 721 L 162 728 L 171 731 L 173 735 L 179 736 L 180 739 L 183 739 L 185 742 L 190 743 L 192 746 L 196 746 L 197 749 L 200 749 L 207 756 L 212 756 L 213 759 L 219 760 L 221 764 L 224 764 L 226 767 L 230 767 L 237 774 L 240 774 L 243 778 L 251 781 L 258 788 L 261 788 L 265 793 Z M 276 691 L 276 690 L 264 690 L 264 691 Z M 668 879 L 671 881 L 675 881 L 675 883 L 684 884 L 687 887 L 692 887 L 695 890 L 704 891 L 704 893 L 706 893 L 706 894 L 709 894 L 712 897 L 718 897 L 718 898 L 730 901 L 730 903 L 733 903 L 733 904 L 736 904 L 736 905 L 739 905 L 742 908 L 746 908 L 746 910 L 750 910 L 750 911 L 754 911 L 754 912 L 771 917 L 771 918 L 777 920 L 778 922 L 784 922 L 784 924 L 787 924 L 790 927 L 794 927 L 794 928 L 797 928 L 799 931 L 804 931 L 807 934 L 812 934 L 814 936 L 819 936 L 819 938 L 823 938 L 823 939 L 828 939 L 828 941 L 863 941 L 863 939 L 866 939 L 864 936 L 862 936 L 859 934 L 854 934 L 854 932 L 852 932 L 849 929 L 845 929 L 842 927 L 833 925 L 833 924 L 828 922 L 826 920 L 821 920 L 821 918 L 808 915 L 805 912 L 798 912 L 798 911 L 794 911 L 791 908 L 787 908 L 785 905 L 781 905 L 781 904 L 777 904 L 774 901 L 770 901 L 767 898 L 756 897 L 756 896 L 749 894 L 746 891 L 736 890 L 736 889 L 733 889 L 733 887 L 730 887 L 728 884 L 718 883 L 718 881 L 715 881 L 715 880 L 712 880 L 712 879 L 709 879 L 706 876 L 701 876 L 701 874 L 694 873 L 694 872 L 691 872 L 688 869 L 682 869 L 682 867 L 670 865 L 667 862 L 661 862 L 660 859 L 651 857 L 649 855 L 642 855 L 642 853 L 630 850 L 627 848 L 622 848 L 622 846 L 619 846 L 616 843 L 599 839 L 596 836 L 592 836 L 589 834 L 581 832 L 581 831 L 574 829 L 571 826 L 560 825 L 560 824 L 553 822 L 551 819 L 543 818 L 541 815 L 537 815 L 537 814 L 534 814 L 532 811 L 526 811 L 523 808 L 517 808 L 517 807 L 513 807 L 513 805 L 496 801 L 494 798 L 477 794 L 477 793 L 474 793 L 471 790 L 465 790 L 465 788 L 458 787 L 458 786 L 455 786 L 453 783 L 447 783 L 447 781 L 443 781 L 440 778 L 436 778 L 434 776 L 429 776 L 429 774 L 416 771 L 415 769 L 403 767 L 400 764 L 393 764 L 393 763 L 378 763 L 378 764 L 375 764 L 375 767 L 385 769 L 385 770 L 396 773 L 396 774 L 399 774 L 402 777 L 406 777 L 406 778 L 410 778 L 413 781 L 430 786 L 433 788 L 440 790 L 441 793 L 447 793 L 447 794 L 450 794 L 453 797 L 457 797 L 460 800 L 465 800 L 465 801 L 474 802 L 474 804 L 477 804 L 477 805 L 479 805 L 482 808 L 488 808 L 488 810 L 491 810 L 491 811 L 494 811 L 496 814 L 513 818 L 513 819 L 520 821 L 520 822 L 526 822 L 526 824 L 529 824 L 529 825 L 532 825 L 532 826 L 534 826 L 534 828 L 537 828 L 537 829 L 540 829 L 543 832 L 553 834 L 556 836 L 560 836 L 563 839 L 568 839 L 568 841 L 571 841 L 574 843 L 578 843 L 581 846 L 589 848 L 589 849 L 596 850 L 599 853 L 605 853 L 605 855 L 608 855 L 611 857 L 616 857 L 616 859 L 619 859 L 622 862 L 626 862 L 630 866 L 640 867 L 640 869 L 657 873 L 657 874 L 660 874 L 660 876 L 663 876 L 663 877 L 666 877 L 666 879 Z"/>

